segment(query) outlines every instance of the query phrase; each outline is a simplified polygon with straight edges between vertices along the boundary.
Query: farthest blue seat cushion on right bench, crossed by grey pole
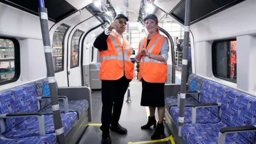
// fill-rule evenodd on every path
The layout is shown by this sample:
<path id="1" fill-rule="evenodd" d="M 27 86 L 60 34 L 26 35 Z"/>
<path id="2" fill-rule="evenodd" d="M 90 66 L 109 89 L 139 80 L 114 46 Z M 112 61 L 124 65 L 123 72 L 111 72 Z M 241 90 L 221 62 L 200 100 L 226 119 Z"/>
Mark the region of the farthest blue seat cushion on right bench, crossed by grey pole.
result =
<path id="1" fill-rule="evenodd" d="M 168 96 L 165 97 L 165 107 L 170 110 L 171 107 L 177 106 L 178 97 L 177 96 Z M 194 99 L 193 97 L 190 97 L 188 94 L 186 94 L 186 101 L 185 106 L 192 106 L 194 104 L 197 104 L 198 101 Z"/>

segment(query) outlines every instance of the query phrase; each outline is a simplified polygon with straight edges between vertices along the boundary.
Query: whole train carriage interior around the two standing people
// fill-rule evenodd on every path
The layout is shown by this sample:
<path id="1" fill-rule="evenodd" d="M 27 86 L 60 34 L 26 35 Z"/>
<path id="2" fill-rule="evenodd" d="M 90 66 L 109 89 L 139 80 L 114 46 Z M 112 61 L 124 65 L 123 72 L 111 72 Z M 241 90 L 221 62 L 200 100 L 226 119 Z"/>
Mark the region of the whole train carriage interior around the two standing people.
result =
<path id="1" fill-rule="evenodd" d="M 128 132 L 110 132 L 113 144 L 255 144 L 255 7 L 255 0 L 0 0 L 0 143 L 101 143 L 102 65 L 93 43 L 122 13 L 134 77 L 119 120 Z M 148 14 L 169 43 L 157 140 L 153 127 L 141 130 L 149 107 L 140 106 L 135 61 Z"/>

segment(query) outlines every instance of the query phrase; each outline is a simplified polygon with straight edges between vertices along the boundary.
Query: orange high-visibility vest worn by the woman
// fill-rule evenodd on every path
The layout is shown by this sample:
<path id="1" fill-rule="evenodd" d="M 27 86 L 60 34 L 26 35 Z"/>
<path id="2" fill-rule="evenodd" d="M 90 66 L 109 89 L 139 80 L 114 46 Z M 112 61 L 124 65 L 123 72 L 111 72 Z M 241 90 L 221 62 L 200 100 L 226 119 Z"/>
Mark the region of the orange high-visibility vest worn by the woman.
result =
<path id="1" fill-rule="evenodd" d="M 164 42 L 164 36 L 156 34 L 151 38 L 147 50 L 151 54 L 160 54 Z M 142 38 L 139 44 L 139 51 L 147 45 L 147 36 Z M 165 83 L 167 79 L 167 63 L 158 61 L 147 56 L 141 57 L 139 80 L 143 78 L 149 83 Z"/>

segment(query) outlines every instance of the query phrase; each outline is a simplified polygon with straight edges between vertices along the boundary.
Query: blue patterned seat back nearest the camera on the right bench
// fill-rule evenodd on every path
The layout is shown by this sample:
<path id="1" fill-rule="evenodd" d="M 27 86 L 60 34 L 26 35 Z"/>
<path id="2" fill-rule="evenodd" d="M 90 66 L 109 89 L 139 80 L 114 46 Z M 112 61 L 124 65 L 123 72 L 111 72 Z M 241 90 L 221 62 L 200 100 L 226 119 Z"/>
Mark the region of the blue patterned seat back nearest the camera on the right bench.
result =
<path id="1" fill-rule="evenodd" d="M 228 126 L 256 125 L 256 97 L 229 89 L 222 101 L 221 109 L 221 120 Z M 256 132 L 239 134 L 256 143 Z"/>

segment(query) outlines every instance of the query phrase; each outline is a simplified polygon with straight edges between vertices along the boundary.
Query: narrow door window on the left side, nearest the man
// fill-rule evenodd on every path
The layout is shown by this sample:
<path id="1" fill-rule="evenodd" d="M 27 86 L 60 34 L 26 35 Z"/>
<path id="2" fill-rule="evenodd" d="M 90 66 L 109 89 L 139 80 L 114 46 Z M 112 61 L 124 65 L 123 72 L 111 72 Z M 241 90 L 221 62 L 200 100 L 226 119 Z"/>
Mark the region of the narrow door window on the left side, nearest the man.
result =
<path id="1" fill-rule="evenodd" d="M 72 36 L 71 40 L 71 56 L 70 56 L 70 67 L 78 67 L 79 66 L 79 42 L 80 38 L 84 32 L 77 29 Z"/>

